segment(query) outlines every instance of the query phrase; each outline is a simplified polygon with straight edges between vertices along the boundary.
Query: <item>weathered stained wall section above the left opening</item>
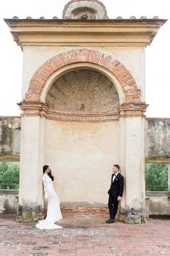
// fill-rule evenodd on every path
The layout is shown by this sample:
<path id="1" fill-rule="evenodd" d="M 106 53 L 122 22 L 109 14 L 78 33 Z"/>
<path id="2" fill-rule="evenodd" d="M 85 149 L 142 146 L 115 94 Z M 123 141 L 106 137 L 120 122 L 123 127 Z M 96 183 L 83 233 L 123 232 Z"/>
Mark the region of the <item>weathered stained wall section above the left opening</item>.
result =
<path id="1" fill-rule="evenodd" d="M 19 161 L 21 119 L 0 116 L 0 161 Z"/>

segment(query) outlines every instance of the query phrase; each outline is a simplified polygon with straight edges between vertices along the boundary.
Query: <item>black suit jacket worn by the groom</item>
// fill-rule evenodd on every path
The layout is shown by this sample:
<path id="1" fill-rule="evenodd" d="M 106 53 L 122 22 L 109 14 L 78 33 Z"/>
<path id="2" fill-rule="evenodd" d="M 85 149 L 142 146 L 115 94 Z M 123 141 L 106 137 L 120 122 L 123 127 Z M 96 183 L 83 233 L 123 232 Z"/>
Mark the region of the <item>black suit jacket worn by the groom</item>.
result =
<path id="1" fill-rule="evenodd" d="M 114 174 L 112 174 L 112 177 L 113 175 Z M 118 173 L 117 176 L 115 177 L 114 182 L 112 182 L 112 178 L 111 178 L 111 185 L 110 185 L 108 194 L 112 195 L 112 197 L 122 197 L 123 188 L 124 188 L 124 178 L 120 173 Z"/>

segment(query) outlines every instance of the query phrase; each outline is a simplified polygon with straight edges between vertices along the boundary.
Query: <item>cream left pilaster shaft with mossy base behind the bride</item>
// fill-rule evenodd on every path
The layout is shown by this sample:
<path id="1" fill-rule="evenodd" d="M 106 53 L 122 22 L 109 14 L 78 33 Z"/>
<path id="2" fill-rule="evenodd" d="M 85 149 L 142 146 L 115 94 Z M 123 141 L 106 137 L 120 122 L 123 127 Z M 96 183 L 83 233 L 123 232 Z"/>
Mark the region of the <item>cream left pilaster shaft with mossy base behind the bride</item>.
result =
<path id="1" fill-rule="evenodd" d="M 34 222 L 43 208 L 42 165 L 45 119 L 22 116 L 22 142 L 17 221 Z"/>

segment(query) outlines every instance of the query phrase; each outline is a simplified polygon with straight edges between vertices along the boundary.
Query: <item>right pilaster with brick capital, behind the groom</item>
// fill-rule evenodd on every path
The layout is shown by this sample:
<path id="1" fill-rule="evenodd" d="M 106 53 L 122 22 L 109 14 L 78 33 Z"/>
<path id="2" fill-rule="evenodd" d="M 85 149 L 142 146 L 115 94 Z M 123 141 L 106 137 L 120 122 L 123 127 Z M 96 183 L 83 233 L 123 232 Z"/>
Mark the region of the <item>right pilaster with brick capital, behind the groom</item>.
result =
<path id="1" fill-rule="evenodd" d="M 121 166 L 125 176 L 125 199 L 120 213 L 125 223 L 143 223 L 145 213 L 144 104 L 120 106 Z"/>

